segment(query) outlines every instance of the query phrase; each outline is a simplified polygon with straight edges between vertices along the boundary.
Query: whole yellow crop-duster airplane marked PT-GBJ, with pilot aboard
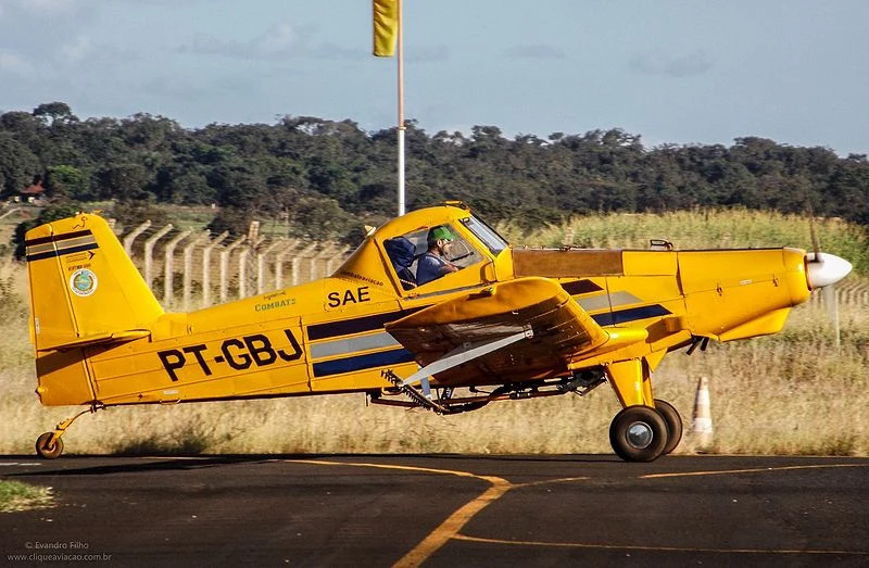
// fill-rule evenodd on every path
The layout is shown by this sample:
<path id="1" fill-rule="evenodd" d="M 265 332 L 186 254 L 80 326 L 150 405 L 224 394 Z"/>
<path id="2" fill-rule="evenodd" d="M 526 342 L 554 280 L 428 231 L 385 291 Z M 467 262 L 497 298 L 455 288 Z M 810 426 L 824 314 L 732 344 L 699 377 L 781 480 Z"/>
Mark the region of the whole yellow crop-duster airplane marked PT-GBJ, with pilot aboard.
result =
<path id="1" fill-rule="evenodd" d="M 38 438 L 45 458 L 109 406 L 361 392 L 449 415 L 608 382 L 613 450 L 650 462 L 682 436 L 653 394 L 665 354 L 774 333 L 852 268 L 791 248 L 512 248 L 448 202 L 369 231 L 328 278 L 181 314 L 96 214 L 37 227 L 26 248 L 36 392 L 86 405 Z"/>

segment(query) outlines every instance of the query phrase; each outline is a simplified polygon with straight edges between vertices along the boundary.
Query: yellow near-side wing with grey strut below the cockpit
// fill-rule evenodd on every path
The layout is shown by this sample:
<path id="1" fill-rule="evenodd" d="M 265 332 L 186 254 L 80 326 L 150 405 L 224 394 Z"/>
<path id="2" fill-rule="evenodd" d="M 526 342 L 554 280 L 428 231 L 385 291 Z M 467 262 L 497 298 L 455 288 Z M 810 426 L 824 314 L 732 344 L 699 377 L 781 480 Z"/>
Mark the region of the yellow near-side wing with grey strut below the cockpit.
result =
<path id="1" fill-rule="evenodd" d="M 443 384 L 551 376 L 563 373 L 569 358 L 609 341 L 558 282 L 539 277 L 495 283 L 386 329 L 426 367 L 420 373 L 428 369 Z M 436 365 L 448 358 L 451 364 Z"/>

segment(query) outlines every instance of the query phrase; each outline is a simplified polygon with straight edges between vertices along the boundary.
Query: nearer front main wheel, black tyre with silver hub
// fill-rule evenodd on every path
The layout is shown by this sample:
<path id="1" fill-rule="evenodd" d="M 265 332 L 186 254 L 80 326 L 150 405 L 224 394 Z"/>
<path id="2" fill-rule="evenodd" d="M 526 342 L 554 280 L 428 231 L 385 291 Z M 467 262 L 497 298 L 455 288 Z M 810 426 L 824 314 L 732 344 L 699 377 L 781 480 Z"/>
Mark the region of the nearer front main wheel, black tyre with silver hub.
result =
<path id="1" fill-rule="evenodd" d="M 654 408 L 628 406 L 613 418 L 609 443 L 626 462 L 652 462 L 667 446 L 667 422 Z"/>

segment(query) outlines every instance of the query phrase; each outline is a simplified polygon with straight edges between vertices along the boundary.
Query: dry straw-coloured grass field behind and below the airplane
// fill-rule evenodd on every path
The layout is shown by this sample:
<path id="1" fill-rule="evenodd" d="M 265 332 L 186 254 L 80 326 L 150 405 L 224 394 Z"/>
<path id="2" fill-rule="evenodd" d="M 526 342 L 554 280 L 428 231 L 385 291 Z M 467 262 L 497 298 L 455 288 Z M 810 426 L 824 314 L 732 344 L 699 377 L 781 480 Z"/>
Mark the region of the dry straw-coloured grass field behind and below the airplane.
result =
<path id="1" fill-rule="evenodd" d="M 677 248 L 810 247 L 808 222 L 747 212 L 669 216 L 594 216 L 531 235 L 499 227 L 514 242 L 645 248 L 665 238 Z M 690 426 L 696 384 L 708 377 L 714 451 L 764 454 L 869 455 L 869 289 L 866 232 L 819 222 L 823 250 L 852 260 L 844 282 L 841 346 L 823 306 L 795 308 L 783 332 L 702 353 L 671 353 L 655 374 L 656 396 L 670 401 Z M 860 248 L 864 248 L 860 250 Z M 25 273 L 0 262 L 0 303 L 7 341 L 0 351 L 0 453 L 32 454 L 43 431 L 76 411 L 41 407 L 28 341 Z M 609 453 L 608 428 L 618 403 L 607 386 L 584 399 L 490 404 L 452 417 L 424 411 L 366 407 L 362 394 L 116 407 L 80 418 L 65 434 L 66 453 Z M 691 452 L 688 434 L 677 452 Z"/>

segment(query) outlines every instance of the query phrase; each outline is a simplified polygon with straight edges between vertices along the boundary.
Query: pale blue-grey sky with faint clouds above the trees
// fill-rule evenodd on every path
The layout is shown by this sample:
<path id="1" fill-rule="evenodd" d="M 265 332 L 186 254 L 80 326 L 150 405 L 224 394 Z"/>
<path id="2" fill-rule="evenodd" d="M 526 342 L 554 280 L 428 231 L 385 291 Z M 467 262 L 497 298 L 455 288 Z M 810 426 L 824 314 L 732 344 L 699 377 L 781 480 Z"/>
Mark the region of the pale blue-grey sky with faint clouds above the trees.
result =
<path id="1" fill-rule="evenodd" d="M 0 0 L 0 112 L 376 131 L 398 81 L 371 41 L 370 0 Z M 404 54 L 405 117 L 429 135 L 869 153 L 866 0 L 404 0 Z"/>

